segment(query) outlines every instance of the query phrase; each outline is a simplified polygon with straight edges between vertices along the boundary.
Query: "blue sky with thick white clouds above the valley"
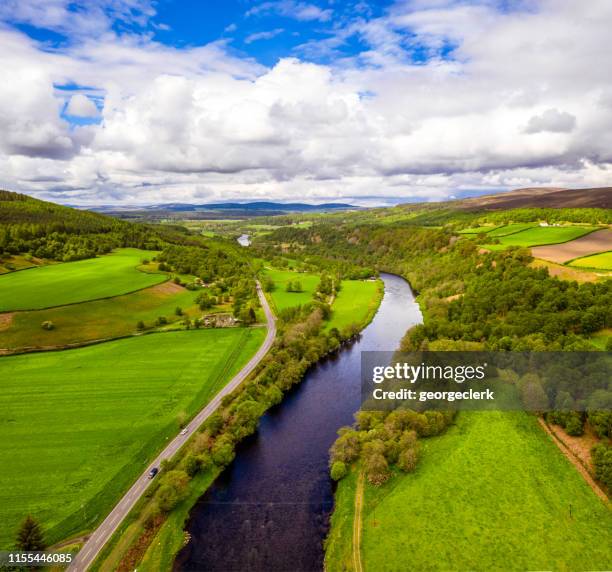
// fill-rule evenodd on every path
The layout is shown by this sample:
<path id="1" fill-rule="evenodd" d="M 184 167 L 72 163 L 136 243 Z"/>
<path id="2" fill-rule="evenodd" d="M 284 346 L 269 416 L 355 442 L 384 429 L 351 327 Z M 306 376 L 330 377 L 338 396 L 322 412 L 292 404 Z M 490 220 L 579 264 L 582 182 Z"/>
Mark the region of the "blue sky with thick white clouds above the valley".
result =
<path id="1" fill-rule="evenodd" d="M 612 185 L 610 0 L 2 0 L 0 188 L 75 205 Z"/>

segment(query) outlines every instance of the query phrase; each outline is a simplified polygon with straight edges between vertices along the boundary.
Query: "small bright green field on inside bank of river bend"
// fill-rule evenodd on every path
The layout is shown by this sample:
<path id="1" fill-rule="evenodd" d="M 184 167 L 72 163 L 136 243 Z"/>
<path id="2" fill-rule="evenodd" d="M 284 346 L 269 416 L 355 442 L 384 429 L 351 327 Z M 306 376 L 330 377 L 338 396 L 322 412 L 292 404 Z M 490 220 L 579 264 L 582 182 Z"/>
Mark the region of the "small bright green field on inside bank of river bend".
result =
<path id="1" fill-rule="evenodd" d="M 383 289 L 380 281 L 343 280 L 342 288 L 332 305 L 332 316 L 327 329 L 342 331 L 352 323 L 362 326 L 367 323 L 378 308 Z"/>

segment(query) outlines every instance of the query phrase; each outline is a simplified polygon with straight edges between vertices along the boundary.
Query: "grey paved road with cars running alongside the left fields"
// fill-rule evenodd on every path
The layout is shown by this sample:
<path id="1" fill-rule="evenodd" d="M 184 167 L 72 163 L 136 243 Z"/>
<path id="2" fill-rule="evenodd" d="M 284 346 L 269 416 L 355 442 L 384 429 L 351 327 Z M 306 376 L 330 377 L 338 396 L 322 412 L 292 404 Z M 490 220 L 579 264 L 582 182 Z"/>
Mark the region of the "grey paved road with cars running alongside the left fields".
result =
<path id="1" fill-rule="evenodd" d="M 263 345 L 259 348 L 257 353 L 251 358 L 236 376 L 208 403 L 204 409 L 202 409 L 187 425 L 186 435 L 177 435 L 166 448 L 157 456 L 157 458 L 145 469 L 145 471 L 138 477 L 138 480 L 132 485 L 130 490 L 124 495 L 119 501 L 111 513 L 104 519 L 104 522 L 93 532 L 89 537 L 89 540 L 84 544 L 83 548 L 76 555 L 72 564 L 68 567 L 69 572 L 84 572 L 96 559 L 103 546 L 108 542 L 109 538 L 113 535 L 115 530 L 119 527 L 123 519 L 130 512 L 132 507 L 136 504 L 138 499 L 143 495 L 146 488 L 149 486 L 151 481 L 147 478 L 149 471 L 153 467 L 159 467 L 159 464 L 164 459 L 172 457 L 191 437 L 192 433 L 200 426 L 204 421 L 212 415 L 221 404 L 221 399 L 236 389 L 246 377 L 255 369 L 255 366 L 261 361 L 261 359 L 268 353 L 268 350 L 272 347 L 274 338 L 276 336 L 276 324 L 274 322 L 274 314 L 270 310 L 268 301 L 261 290 L 261 284 L 257 282 L 257 295 L 263 309 L 266 313 L 266 321 L 268 323 L 268 332 Z"/>

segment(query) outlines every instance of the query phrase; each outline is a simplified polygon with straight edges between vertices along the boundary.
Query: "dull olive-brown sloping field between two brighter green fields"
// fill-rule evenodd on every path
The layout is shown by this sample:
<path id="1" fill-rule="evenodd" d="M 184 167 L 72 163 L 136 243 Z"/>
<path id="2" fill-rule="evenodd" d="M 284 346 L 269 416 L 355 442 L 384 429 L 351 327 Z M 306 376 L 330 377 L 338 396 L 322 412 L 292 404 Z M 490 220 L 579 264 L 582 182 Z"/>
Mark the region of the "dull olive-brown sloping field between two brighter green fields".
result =
<path id="1" fill-rule="evenodd" d="M 197 292 L 165 282 L 104 300 L 4 314 L 4 320 L 0 317 L 0 349 L 62 346 L 128 336 L 136 332 L 139 320 L 147 327 L 159 316 L 170 323 L 182 320 L 174 313 L 177 306 L 191 317 L 201 314 L 194 304 L 196 295 Z M 44 321 L 53 322 L 55 328 L 43 330 Z"/>

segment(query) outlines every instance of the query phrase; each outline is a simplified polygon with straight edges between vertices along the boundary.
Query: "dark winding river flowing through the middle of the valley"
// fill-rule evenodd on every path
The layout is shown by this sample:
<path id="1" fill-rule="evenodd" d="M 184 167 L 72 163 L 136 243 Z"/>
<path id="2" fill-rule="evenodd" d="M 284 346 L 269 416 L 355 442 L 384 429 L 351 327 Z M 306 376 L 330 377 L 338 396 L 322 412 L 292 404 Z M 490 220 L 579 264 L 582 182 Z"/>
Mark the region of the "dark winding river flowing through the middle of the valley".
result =
<path id="1" fill-rule="evenodd" d="M 261 419 L 236 459 L 193 507 L 189 543 L 174 570 L 323 569 L 323 540 L 333 508 L 328 450 L 359 408 L 361 352 L 395 350 L 421 322 L 408 283 L 383 274 L 385 294 L 352 344 L 309 370 Z"/>

